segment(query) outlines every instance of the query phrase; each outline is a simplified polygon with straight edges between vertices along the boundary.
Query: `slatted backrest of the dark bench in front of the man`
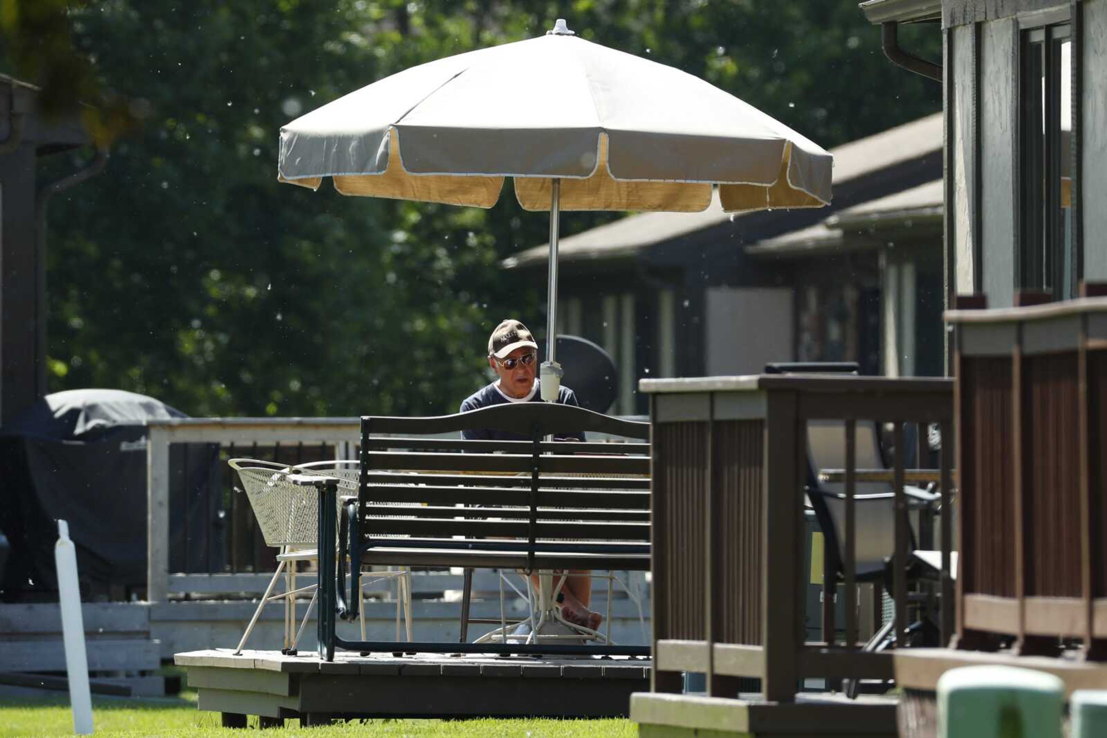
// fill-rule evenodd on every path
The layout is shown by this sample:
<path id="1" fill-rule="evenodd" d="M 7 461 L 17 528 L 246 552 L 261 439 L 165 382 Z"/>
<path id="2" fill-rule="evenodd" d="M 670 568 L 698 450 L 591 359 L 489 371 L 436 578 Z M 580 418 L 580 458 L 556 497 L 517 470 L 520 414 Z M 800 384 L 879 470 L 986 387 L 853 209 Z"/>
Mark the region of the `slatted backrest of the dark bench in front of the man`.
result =
<path id="1" fill-rule="evenodd" d="M 475 429 L 530 440 L 441 438 Z M 579 431 L 629 440 L 545 440 Z M 650 445 L 641 441 L 648 439 L 648 423 L 545 402 L 438 418 L 364 417 L 361 535 L 363 541 L 516 539 L 531 546 L 646 542 Z"/>

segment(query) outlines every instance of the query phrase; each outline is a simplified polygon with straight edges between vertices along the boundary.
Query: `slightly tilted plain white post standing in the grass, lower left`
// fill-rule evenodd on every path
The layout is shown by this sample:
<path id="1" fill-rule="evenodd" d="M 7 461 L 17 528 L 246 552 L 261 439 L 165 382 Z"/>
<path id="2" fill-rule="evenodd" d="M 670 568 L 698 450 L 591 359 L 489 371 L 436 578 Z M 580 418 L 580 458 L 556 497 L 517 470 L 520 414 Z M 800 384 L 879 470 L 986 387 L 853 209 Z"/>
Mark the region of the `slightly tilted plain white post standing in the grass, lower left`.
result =
<path id="1" fill-rule="evenodd" d="M 69 524 L 63 520 L 58 521 L 54 563 L 58 566 L 58 599 L 62 609 L 62 639 L 65 644 L 70 704 L 73 707 L 73 732 L 87 736 L 92 732 L 92 694 L 89 689 L 89 657 L 84 649 L 81 587 L 76 577 L 76 550 L 69 537 Z"/>

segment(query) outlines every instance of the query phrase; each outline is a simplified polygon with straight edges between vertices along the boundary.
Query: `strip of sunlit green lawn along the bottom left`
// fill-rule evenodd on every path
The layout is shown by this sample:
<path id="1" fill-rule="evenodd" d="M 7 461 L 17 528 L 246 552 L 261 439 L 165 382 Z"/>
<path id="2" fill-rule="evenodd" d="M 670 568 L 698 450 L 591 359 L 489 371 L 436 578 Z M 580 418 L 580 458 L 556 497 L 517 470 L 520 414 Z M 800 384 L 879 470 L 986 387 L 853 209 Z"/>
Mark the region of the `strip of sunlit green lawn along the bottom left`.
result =
<path id="1" fill-rule="evenodd" d="M 250 728 L 256 728 L 251 718 Z M 94 698 L 95 736 L 175 736 L 209 738 L 241 736 L 241 730 L 219 726 L 217 713 L 196 709 L 195 697 L 182 699 Z M 630 720 L 370 720 L 335 724 L 325 728 L 300 728 L 288 720 L 283 729 L 271 729 L 269 738 L 304 736 L 386 736 L 402 738 L 635 738 Z M 0 700 L 0 738 L 73 735 L 73 717 L 64 699 Z"/>

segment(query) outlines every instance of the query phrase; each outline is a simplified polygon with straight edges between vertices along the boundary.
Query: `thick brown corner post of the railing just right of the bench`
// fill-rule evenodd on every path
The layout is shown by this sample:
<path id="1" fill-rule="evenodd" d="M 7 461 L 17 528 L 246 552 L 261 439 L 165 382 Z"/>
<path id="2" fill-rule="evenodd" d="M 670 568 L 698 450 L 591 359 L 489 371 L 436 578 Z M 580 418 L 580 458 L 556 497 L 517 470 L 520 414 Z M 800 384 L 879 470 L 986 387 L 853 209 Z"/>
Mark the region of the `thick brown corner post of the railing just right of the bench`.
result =
<path id="1" fill-rule="evenodd" d="M 765 578 L 762 581 L 762 607 L 765 673 L 762 690 L 770 701 L 793 701 L 799 679 L 796 599 L 799 566 L 796 540 L 803 516 L 798 505 L 801 482 L 796 465 L 798 434 L 796 393 L 786 390 L 767 392 L 765 423 L 765 516 L 762 531 Z M 797 523 L 798 521 L 798 523 Z"/>

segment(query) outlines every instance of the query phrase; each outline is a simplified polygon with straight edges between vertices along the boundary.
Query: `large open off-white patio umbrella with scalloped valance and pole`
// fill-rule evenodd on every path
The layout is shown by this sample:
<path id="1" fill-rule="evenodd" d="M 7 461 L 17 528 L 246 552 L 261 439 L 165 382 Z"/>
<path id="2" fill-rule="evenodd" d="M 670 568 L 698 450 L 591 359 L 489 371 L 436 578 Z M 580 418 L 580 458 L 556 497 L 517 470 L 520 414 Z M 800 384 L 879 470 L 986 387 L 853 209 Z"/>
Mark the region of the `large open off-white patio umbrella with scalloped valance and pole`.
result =
<path id="1" fill-rule="evenodd" d="M 576 38 L 545 37 L 420 64 L 281 129 L 279 178 L 344 195 L 492 207 L 504 177 L 550 211 L 542 397 L 557 399 L 560 211 L 821 207 L 831 156 L 680 70 Z"/>

